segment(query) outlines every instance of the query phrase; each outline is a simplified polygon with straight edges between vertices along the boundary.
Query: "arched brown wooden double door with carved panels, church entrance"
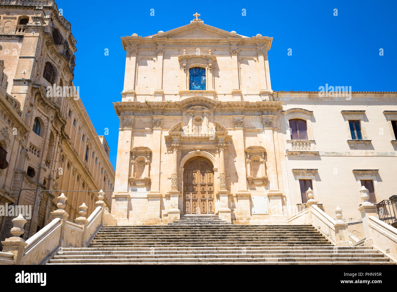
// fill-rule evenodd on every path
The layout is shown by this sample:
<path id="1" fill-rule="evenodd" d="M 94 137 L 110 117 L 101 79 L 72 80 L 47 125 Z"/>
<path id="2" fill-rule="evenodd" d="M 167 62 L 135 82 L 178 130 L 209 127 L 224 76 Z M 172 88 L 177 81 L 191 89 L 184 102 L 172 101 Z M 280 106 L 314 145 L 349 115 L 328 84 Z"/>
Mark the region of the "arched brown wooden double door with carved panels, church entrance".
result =
<path id="1" fill-rule="evenodd" d="M 204 157 L 193 157 L 183 172 L 185 214 L 214 214 L 214 171 Z"/>

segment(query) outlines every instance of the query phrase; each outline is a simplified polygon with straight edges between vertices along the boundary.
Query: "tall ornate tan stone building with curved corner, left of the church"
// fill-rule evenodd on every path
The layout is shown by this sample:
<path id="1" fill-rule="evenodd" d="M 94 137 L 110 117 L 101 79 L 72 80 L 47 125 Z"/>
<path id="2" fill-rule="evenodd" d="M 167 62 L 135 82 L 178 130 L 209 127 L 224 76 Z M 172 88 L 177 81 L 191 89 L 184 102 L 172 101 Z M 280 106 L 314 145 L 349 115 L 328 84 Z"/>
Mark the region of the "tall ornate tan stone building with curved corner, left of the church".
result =
<path id="1" fill-rule="evenodd" d="M 110 149 L 72 83 L 75 44 L 54 1 L 0 1 L 0 204 L 31 206 L 26 238 L 49 222 L 61 190 L 71 221 L 83 202 L 95 209 L 100 189 L 111 208 Z M 13 217 L 0 216 L 0 240 Z"/>

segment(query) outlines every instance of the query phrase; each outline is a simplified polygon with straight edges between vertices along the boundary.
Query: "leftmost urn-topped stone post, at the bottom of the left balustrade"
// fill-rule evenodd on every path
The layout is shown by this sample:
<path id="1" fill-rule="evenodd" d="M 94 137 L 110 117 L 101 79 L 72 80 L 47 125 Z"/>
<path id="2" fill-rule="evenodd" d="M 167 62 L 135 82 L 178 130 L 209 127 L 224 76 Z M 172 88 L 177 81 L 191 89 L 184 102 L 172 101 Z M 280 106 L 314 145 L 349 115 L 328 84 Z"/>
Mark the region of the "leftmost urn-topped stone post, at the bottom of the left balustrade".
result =
<path id="1" fill-rule="evenodd" d="M 13 260 L 15 261 L 15 265 L 19 265 L 21 263 L 23 257 L 23 250 L 27 246 L 27 243 L 20 236 L 25 232 L 23 227 L 25 226 L 26 219 L 23 218 L 22 214 L 19 214 L 18 217 L 12 219 L 13 227 L 11 228 L 12 237 L 6 238 L 1 242 L 3 246 L 3 252 L 12 253 L 14 255 Z"/>

